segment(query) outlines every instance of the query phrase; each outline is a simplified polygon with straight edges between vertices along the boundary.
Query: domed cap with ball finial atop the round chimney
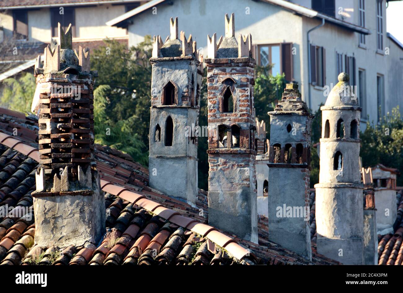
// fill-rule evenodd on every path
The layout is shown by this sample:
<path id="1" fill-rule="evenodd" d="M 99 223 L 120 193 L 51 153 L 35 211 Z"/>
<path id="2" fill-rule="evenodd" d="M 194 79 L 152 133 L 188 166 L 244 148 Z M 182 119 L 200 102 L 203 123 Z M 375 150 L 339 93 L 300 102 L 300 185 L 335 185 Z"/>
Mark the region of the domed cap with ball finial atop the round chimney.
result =
<path id="1" fill-rule="evenodd" d="M 358 99 L 354 87 L 349 85 L 349 75 L 342 72 L 337 79 L 339 79 L 339 82 L 330 91 L 325 106 L 358 106 Z"/>

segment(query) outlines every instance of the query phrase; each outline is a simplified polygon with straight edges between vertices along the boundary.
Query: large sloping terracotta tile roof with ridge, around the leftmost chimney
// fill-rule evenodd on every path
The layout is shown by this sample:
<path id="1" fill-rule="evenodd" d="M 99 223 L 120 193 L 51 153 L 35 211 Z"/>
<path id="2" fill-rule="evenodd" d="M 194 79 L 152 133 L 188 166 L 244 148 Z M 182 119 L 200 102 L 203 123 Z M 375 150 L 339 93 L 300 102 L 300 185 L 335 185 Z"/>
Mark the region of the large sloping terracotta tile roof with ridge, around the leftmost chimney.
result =
<path id="1" fill-rule="evenodd" d="M 12 137 L 14 128 L 18 137 Z M 36 116 L 0 108 L 0 131 L 0 206 L 31 207 L 39 160 Z M 50 243 L 42 250 L 33 247 L 33 217 L 9 215 L 0 217 L 1 264 L 338 264 L 315 247 L 309 262 L 268 241 L 265 217 L 259 220 L 259 244 L 218 231 L 208 225 L 205 191 L 192 207 L 150 188 L 147 168 L 127 154 L 95 145 L 95 158 L 106 192 L 102 243 L 61 253 Z"/>

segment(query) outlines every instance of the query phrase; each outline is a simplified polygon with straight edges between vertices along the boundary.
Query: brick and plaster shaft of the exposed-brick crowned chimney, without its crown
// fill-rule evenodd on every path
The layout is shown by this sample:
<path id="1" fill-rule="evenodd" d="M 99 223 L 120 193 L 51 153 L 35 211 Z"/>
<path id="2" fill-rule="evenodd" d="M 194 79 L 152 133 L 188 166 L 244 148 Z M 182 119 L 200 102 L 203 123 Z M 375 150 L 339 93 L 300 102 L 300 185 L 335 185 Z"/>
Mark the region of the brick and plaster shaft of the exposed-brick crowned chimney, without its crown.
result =
<path id="1" fill-rule="evenodd" d="M 252 58 L 206 59 L 208 67 L 208 125 L 210 134 L 209 222 L 243 239 L 256 242 L 257 206 L 253 117 Z M 229 81 L 231 79 L 233 83 Z M 224 85 L 223 85 L 224 84 Z M 230 86 L 234 97 L 233 113 L 223 112 L 222 96 Z M 239 148 L 232 148 L 231 131 L 228 148 L 219 148 L 219 125 L 231 129 L 237 125 Z"/>

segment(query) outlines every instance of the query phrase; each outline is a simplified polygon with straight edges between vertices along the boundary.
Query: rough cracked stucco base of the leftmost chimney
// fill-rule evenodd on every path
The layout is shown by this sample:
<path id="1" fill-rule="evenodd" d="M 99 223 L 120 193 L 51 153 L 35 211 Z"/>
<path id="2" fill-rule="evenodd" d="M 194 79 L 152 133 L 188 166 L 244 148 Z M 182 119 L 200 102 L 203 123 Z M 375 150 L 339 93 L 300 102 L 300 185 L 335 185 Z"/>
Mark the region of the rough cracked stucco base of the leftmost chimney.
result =
<path id="1" fill-rule="evenodd" d="M 34 197 L 35 244 L 76 247 L 98 243 L 105 233 L 104 192 L 98 172 L 93 172 L 93 195 Z"/>

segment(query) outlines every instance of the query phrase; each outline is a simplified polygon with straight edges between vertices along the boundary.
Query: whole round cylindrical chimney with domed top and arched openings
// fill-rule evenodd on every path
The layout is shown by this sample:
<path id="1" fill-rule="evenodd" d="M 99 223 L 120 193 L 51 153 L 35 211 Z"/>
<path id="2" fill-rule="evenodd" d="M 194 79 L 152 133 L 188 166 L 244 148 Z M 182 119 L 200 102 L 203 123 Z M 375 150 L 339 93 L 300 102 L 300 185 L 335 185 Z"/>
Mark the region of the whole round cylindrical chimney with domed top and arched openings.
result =
<path id="1" fill-rule="evenodd" d="M 318 253 L 343 264 L 364 264 L 364 202 L 359 167 L 361 108 L 340 73 L 322 110 L 316 188 Z"/>

